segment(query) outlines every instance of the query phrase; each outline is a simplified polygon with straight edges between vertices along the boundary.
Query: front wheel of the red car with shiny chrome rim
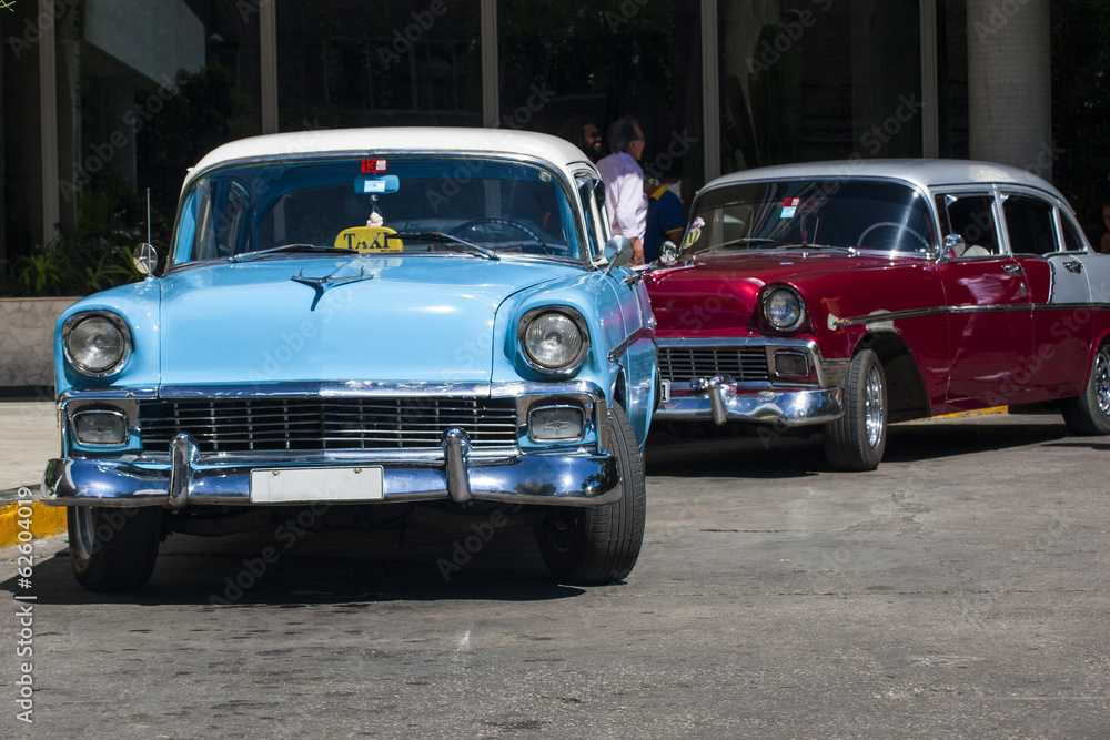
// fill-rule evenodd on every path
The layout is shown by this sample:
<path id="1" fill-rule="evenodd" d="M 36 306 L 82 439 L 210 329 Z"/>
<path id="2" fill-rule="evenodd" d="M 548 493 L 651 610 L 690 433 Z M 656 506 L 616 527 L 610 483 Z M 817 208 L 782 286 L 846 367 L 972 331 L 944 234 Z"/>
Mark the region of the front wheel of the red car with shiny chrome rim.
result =
<path id="1" fill-rule="evenodd" d="M 848 365 L 844 416 L 825 425 L 825 458 L 837 470 L 874 470 L 887 448 L 887 376 L 874 349 Z"/>

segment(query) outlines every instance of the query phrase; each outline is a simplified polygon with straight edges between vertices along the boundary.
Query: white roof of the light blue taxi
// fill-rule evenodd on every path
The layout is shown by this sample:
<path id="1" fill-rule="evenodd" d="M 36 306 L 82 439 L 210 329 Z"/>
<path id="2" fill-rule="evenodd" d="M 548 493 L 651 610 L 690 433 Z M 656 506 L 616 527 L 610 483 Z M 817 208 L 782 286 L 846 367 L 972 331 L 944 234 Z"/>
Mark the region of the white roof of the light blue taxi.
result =
<path id="1" fill-rule="evenodd" d="M 366 152 L 466 152 L 534 156 L 566 171 L 592 168 L 568 141 L 544 133 L 509 129 L 406 126 L 382 129 L 315 129 L 241 139 L 219 146 L 201 159 L 185 185 L 201 172 L 225 162 L 304 154 Z"/>

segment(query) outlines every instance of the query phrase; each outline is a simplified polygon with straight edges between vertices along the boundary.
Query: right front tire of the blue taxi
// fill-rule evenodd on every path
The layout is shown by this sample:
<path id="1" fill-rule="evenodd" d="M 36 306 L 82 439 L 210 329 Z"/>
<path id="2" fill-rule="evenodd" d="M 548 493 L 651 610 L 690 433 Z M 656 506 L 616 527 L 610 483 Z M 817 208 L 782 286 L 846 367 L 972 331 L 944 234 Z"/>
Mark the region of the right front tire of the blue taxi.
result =
<path id="1" fill-rule="evenodd" d="M 536 526 L 544 562 L 563 584 L 603 586 L 623 580 L 644 543 L 647 487 L 644 459 L 628 417 L 609 408 L 609 452 L 617 458 L 620 500 L 605 506 L 561 507 Z"/>

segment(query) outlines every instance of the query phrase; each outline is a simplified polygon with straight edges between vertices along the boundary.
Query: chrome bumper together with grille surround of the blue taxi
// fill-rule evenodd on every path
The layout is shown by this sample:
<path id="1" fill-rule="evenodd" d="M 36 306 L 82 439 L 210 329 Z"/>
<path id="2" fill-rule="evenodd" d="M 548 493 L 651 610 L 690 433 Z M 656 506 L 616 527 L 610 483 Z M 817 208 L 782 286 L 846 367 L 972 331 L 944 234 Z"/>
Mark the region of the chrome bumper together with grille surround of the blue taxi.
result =
<path id="1" fill-rule="evenodd" d="M 48 506 L 168 506 L 186 505 L 258 506 L 264 499 L 251 497 L 251 476 L 256 470 L 304 468 L 381 468 L 381 497 L 370 503 L 450 499 L 513 501 L 554 506 L 601 506 L 620 497 L 616 458 L 598 452 L 606 447 L 606 403 L 601 389 L 587 382 L 563 384 L 411 384 L 401 388 L 405 396 L 454 395 L 517 398 L 519 434 L 527 430 L 528 410 L 545 398 L 578 398 L 592 417 L 596 439 L 581 445 L 522 449 L 515 445 L 472 448 L 458 427 L 443 430 L 438 449 L 336 450 L 320 454 L 202 453 L 189 434 L 178 434 L 167 453 L 94 456 L 88 452 L 48 463 L 42 478 L 41 499 Z M 167 389 L 163 388 L 163 393 Z M 238 386 L 219 388 L 225 397 L 260 395 L 260 389 Z M 345 383 L 278 386 L 274 393 L 290 397 L 305 395 L 333 398 L 398 393 L 394 385 Z M 173 389 L 172 398 L 208 397 L 212 388 Z M 62 415 L 62 447 L 72 449 L 71 409 L 90 404 L 110 404 L 134 416 L 131 392 L 73 393 L 59 402 Z M 376 472 L 375 472 L 376 473 Z M 326 501 L 322 496 L 321 503 Z M 344 499 L 342 503 L 357 503 Z"/>

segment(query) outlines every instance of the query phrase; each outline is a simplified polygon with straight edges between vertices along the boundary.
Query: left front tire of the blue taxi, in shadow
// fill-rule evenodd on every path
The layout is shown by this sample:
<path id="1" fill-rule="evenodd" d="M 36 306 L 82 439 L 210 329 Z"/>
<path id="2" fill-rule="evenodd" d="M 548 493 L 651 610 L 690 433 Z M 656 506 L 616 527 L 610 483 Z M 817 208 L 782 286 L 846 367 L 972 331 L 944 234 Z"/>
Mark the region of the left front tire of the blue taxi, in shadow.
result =
<path id="1" fill-rule="evenodd" d="M 70 564 L 90 591 L 137 591 L 154 572 L 162 536 L 162 509 L 71 506 Z"/>

